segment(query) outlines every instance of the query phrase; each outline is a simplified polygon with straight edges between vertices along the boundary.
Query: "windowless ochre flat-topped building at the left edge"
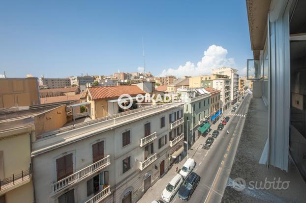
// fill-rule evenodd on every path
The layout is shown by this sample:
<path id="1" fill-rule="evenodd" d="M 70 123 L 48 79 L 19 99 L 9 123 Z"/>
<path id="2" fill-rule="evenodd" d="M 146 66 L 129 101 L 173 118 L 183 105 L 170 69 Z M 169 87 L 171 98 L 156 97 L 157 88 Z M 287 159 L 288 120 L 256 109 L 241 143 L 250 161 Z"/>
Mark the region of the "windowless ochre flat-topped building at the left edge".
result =
<path id="1" fill-rule="evenodd" d="M 39 103 L 36 77 L 0 78 L 0 87 L 0 108 Z"/>

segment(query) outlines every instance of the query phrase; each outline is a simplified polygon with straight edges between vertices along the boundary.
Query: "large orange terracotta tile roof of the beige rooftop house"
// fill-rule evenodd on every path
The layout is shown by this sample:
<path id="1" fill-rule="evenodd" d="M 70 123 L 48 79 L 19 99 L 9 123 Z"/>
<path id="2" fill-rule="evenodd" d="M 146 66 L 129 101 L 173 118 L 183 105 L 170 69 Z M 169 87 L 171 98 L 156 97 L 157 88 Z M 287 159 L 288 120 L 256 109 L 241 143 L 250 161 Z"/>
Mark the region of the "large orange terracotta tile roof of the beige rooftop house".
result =
<path id="1" fill-rule="evenodd" d="M 88 87 L 87 89 L 92 100 L 119 98 L 123 94 L 128 94 L 131 97 L 146 94 L 136 85 Z"/>

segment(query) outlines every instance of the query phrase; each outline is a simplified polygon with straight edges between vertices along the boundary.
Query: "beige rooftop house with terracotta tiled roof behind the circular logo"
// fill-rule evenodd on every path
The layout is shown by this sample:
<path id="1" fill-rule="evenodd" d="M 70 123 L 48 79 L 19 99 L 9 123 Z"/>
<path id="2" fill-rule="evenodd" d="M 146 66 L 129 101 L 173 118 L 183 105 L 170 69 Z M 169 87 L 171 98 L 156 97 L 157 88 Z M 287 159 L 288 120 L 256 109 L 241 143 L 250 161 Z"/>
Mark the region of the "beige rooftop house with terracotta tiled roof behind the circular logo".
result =
<path id="1" fill-rule="evenodd" d="M 91 103 L 90 117 L 97 119 L 127 111 L 118 106 L 118 98 L 124 94 L 135 97 L 138 94 L 145 95 L 146 92 L 137 85 L 88 87 L 86 90 L 86 101 Z M 128 110 L 137 108 L 136 103 L 135 98 L 133 98 L 133 105 Z M 128 105 L 128 102 L 125 102 L 123 105 Z"/>

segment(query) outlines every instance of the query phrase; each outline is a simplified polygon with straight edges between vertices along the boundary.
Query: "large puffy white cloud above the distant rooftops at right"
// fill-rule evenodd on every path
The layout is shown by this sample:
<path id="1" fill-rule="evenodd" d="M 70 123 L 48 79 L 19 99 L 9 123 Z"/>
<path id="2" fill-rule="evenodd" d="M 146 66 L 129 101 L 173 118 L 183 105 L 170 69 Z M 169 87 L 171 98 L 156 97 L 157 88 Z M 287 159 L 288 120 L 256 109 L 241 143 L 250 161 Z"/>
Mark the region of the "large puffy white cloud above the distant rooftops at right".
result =
<path id="1" fill-rule="evenodd" d="M 187 61 L 177 69 L 164 69 L 160 76 L 174 75 L 177 77 L 199 76 L 210 74 L 212 69 L 219 67 L 235 67 L 234 58 L 227 58 L 227 50 L 221 46 L 211 45 L 206 51 L 201 61 L 194 63 Z"/>

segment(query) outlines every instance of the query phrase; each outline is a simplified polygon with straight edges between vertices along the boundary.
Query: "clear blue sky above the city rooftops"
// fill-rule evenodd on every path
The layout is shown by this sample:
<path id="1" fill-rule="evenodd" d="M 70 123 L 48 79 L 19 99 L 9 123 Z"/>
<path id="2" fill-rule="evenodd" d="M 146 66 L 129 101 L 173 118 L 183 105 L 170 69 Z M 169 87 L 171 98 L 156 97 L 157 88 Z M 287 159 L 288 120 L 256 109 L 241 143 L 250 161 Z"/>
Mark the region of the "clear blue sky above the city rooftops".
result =
<path id="1" fill-rule="evenodd" d="M 244 0 L 3 1 L 0 19 L 0 74 L 8 77 L 136 72 L 142 37 L 146 71 L 156 76 L 220 64 L 242 70 L 252 58 Z M 204 51 L 211 61 L 197 64 Z"/>

